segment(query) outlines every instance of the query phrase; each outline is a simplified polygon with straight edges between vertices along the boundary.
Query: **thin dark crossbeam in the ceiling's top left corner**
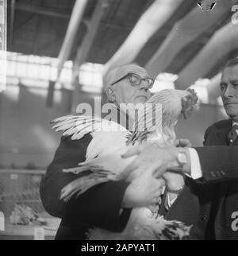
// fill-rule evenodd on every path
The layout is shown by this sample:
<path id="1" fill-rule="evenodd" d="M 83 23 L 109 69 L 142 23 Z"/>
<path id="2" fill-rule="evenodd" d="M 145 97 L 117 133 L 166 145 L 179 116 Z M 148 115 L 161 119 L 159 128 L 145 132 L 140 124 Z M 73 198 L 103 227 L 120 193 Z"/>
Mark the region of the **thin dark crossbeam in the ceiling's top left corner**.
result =
<path id="1" fill-rule="evenodd" d="M 33 6 L 21 2 L 16 3 L 16 10 L 23 10 L 28 13 L 34 13 L 34 14 L 40 14 L 45 16 L 51 16 L 51 17 L 60 17 L 60 18 L 66 18 L 69 19 L 71 17 L 70 13 L 59 11 L 54 8 L 48 8 L 48 7 L 41 7 L 41 6 Z"/>

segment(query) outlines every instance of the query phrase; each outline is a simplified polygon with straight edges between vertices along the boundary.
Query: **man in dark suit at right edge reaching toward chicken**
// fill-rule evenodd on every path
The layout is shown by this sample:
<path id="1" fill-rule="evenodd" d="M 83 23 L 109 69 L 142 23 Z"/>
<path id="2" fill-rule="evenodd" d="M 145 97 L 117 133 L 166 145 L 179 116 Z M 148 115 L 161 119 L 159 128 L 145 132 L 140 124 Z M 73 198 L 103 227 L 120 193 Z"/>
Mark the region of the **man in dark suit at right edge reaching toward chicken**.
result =
<path id="1" fill-rule="evenodd" d="M 238 239 L 238 58 L 222 70 L 221 98 L 231 119 L 216 122 L 205 131 L 204 148 L 195 148 L 196 152 L 182 149 L 179 156 L 178 149 L 151 146 L 133 149 L 125 155 L 139 155 L 128 169 L 132 173 L 148 169 L 153 157 L 160 155 L 153 166 L 158 176 L 166 169 L 180 166 L 183 173 L 194 177 L 186 178 L 186 186 L 174 191 L 177 199 L 173 204 L 165 208 L 163 200 L 160 209 L 166 219 L 193 223 L 192 239 Z M 143 168 L 139 167 L 142 162 Z"/>

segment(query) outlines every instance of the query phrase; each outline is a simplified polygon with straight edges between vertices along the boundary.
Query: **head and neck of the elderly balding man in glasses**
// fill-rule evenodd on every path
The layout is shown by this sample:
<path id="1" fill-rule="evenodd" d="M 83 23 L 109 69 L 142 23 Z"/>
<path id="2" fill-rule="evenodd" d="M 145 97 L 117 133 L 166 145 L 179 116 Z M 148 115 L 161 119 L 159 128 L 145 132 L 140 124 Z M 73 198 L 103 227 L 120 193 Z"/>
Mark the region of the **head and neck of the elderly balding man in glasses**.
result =
<path id="1" fill-rule="evenodd" d="M 154 80 L 148 76 L 144 68 L 136 64 L 129 64 L 115 68 L 106 76 L 106 95 L 113 114 L 106 115 L 109 119 L 132 130 L 134 123 L 134 106 L 145 103 L 150 97 L 149 91 Z M 129 104 L 131 103 L 131 104 Z M 132 108 L 132 109 L 130 109 Z"/>

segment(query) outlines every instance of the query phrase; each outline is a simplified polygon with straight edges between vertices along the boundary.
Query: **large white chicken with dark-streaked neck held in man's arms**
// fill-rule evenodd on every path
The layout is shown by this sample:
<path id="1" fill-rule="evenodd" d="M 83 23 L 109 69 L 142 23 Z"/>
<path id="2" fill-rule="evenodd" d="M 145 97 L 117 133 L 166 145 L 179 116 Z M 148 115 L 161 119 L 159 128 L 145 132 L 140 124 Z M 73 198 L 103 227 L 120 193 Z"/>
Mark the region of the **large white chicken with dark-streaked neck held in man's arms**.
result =
<path id="1" fill-rule="evenodd" d="M 159 91 L 144 107 L 140 107 L 132 132 L 116 122 L 97 117 L 69 115 L 54 120 L 52 128 L 63 131 L 63 136 L 72 135 L 72 140 L 83 138 L 88 133 L 93 137 L 86 150 L 86 161 L 75 168 L 63 170 L 65 173 L 81 173 L 82 176 L 62 189 L 61 200 L 80 196 L 94 185 L 109 180 L 127 180 L 124 169 L 134 157 L 122 159 L 121 154 L 141 143 L 175 144 L 175 125 L 179 116 L 187 118 L 197 102 L 194 90 Z M 182 239 L 189 234 L 189 228 L 176 221 L 167 222 L 148 208 L 134 208 L 125 231 L 120 235 L 95 228 L 89 231 L 89 239 L 168 239 L 168 234 Z"/>

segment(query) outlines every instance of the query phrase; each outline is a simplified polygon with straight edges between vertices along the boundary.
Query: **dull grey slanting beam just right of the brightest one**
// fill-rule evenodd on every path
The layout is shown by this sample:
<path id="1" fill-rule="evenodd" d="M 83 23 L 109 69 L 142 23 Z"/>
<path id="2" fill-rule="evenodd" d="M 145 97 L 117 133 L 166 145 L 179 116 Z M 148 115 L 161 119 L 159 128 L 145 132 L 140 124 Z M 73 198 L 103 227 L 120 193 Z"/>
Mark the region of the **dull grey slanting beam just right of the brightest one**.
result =
<path id="1" fill-rule="evenodd" d="M 231 0 L 220 0 L 209 14 L 196 6 L 189 14 L 177 21 L 163 44 L 160 45 L 152 59 L 145 65 L 149 74 L 156 77 L 159 72 L 166 72 L 166 68 L 175 60 L 175 57 L 183 48 L 195 40 L 198 43 L 202 33 L 213 28 L 217 22 L 221 22 L 227 16 L 233 2 Z"/>

